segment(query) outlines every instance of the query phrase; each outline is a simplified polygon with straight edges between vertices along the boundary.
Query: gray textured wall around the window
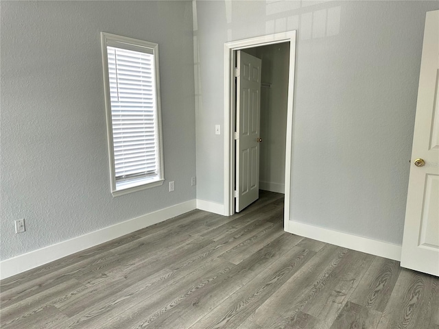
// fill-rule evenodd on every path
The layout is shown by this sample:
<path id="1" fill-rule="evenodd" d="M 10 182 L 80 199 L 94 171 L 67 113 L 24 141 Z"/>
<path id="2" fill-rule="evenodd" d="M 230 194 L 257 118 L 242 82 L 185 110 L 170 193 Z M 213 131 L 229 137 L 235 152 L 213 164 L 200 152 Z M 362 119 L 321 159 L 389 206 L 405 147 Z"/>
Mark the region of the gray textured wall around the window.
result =
<path id="1" fill-rule="evenodd" d="M 115 198 L 101 31 L 160 51 L 167 180 Z M 191 1 L 1 1 L 0 42 L 2 260 L 195 198 Z"/>

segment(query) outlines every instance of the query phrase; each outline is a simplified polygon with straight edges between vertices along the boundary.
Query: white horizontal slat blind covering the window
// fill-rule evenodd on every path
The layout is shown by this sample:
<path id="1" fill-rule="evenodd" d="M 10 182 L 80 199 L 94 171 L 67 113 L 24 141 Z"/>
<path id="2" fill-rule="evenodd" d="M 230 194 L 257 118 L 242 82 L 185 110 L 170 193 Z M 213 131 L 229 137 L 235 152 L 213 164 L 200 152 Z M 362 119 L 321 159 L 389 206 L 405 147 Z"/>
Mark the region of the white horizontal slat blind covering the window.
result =
<path id="1" fill-rule="evenodd" d="M 107 46 L 116 182 L 158 175 L 154 55 Z"/>

